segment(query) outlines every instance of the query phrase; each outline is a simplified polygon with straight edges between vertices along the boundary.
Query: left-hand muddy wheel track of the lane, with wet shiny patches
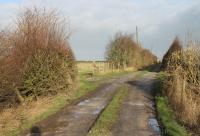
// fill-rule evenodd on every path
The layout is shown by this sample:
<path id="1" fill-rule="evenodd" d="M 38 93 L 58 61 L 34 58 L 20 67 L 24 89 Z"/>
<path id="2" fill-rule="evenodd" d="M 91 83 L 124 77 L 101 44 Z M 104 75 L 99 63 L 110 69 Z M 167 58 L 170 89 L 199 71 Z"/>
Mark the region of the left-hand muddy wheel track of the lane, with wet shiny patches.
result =
<path id="1" fill-rule="evenodd" d="M 40 131 L 42 136 L 85 136 L 102 110 L 108 105 L 117 88 L 133 77 L 134 74 L 129 74 L 112 80 L 89 97 L 35 124 L 33 131 Z M 26 132 L 22 135 L 39 136 L 40 134 Z"/>

